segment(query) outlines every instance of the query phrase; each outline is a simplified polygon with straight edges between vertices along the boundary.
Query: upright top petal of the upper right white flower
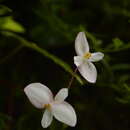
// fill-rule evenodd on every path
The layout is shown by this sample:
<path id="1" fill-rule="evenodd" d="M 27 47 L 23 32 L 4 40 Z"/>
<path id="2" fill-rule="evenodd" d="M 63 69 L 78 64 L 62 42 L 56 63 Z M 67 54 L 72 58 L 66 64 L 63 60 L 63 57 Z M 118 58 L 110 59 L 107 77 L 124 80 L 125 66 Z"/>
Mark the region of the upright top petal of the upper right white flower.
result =
<path id="1" fill-rule="evenodd" d="M 79 32 L 75 40 L 75 50 L 77 55 L 83 56 L 89 52 L 89 45 L 84 32 Z"/>

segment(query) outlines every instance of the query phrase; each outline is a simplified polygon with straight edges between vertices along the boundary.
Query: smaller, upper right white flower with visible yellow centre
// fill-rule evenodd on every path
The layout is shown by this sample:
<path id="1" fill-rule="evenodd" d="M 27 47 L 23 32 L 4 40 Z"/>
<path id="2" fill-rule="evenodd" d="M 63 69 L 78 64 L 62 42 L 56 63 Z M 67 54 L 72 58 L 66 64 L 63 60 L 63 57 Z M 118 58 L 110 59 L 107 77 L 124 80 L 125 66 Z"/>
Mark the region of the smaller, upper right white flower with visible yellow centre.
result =
<path id="1" fill-rule="evenodd" d="M 90 53 L 89 45 L 84 32 L 79 32 L 75 40 L 75 50 L 78 56 L 74 56 L 74 64 L 80 74 L 89 82 L 95 83 L 97 70 L 92 62 L 101 60 L 104 54 L 101 52 Z"/>

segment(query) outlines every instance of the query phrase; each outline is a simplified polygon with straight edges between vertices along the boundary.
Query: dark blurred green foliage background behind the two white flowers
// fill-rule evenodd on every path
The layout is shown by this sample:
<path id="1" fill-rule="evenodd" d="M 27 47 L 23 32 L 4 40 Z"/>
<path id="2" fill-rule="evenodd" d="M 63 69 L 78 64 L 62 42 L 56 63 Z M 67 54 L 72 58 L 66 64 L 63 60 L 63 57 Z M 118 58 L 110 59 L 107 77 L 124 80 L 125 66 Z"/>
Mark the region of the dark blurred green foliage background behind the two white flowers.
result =
<path id="1" fill-rule="evenodd" d="M 0 0 L 0 130 L 42 130 L 42 111 L 23 89 L 32 82 L 54 93 L 75 76 L 69 102 L 78 115 L 75 128 L 54 120 L 49 130 L 129 130 L 129 0 Z M 74 41 L 85 31 L 96 63 L 96 84 L 73 70 Z"/>

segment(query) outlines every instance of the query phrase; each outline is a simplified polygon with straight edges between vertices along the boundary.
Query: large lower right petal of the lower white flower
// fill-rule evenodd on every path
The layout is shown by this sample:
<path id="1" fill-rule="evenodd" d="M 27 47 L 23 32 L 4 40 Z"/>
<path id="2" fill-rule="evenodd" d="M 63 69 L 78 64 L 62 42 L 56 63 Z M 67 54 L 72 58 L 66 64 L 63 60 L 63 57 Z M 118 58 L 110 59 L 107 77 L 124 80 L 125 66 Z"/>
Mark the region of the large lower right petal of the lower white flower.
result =
<path id="1" fill-rule="evenodd" d="M 73 107 L 67 102 L 52 105 L 52 113 L 57 120 L 69 126 L 74 127 L 77 123 L 76 113 Z"/>

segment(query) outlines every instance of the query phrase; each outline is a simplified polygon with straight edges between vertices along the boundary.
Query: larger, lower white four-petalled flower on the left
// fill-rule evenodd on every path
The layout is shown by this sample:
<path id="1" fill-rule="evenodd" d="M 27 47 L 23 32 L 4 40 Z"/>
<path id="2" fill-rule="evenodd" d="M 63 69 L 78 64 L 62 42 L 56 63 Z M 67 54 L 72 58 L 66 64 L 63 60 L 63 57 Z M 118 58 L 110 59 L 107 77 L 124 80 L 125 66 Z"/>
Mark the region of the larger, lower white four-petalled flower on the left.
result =
<path id="1" fill-rule="evenodd" d="M 55 98 L 50 89 L 41 83 L 29 84 L 25 87 L 24 92 L 35 107 L 45 108 L 41 121 L 43 128 L 47 128 L 51 124 L 53 116 L 69 126 L 76 125 L 75 111 L 70 104 L 64 101 L 68 96 L 67 88 L 62 88 Z"/>

